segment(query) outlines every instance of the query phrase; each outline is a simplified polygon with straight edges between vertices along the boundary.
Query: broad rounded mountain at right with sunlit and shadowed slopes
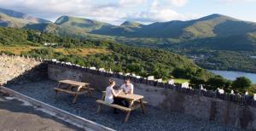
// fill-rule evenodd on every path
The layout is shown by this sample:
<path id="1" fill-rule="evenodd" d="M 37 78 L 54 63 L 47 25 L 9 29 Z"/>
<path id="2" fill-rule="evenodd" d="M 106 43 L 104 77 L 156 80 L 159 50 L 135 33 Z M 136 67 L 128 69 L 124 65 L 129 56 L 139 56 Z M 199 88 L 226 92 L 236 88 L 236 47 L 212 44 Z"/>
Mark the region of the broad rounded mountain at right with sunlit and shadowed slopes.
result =
<path id="1" fill-rule="evenodd" d="M 127 22 L 127 24 L 129 24 L 129 22 Z M 168 22 L 155 22 L 147 26 L 132 26 L 132 31 L 125 30 L 123 25 L 124 24 L 112 27 L 108 29 L 108 31 L 106 31 L 106 29 L 99 29 L 97 31 L 92 31 L 92 33 L 113 35 L 113 33 L 110 32 L 116 31 L 117 28 L 122 27 L 123 32 L 116 33 L 122 37 L 172 37 L 195 39 L 203 37 L 229 37 L 256 31 L 256 23 L 236 20 L 221 14 L 212 14 L 198 20 L 173 20 Z"/>

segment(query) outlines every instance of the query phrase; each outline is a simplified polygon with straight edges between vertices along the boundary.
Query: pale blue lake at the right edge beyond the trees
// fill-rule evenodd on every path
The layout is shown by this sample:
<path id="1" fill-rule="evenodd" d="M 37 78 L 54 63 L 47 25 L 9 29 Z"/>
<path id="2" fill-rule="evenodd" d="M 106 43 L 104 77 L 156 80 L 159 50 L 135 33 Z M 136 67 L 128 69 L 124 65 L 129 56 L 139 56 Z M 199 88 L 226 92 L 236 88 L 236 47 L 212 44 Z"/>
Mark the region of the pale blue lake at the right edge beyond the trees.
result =
<path id="1" fill-rule="evenodd" d="M 208 70 L 208 71 L 211 71 L 216 75 L 222 76 L 230 80 L 235 80 L 236 77 L 247 77 L 253 82 L 253 84 L 256 84 L 256 74 L 253 74 L 253 73 L 247 73 L 242 71 L 217 71 L 217 70 Z"/>

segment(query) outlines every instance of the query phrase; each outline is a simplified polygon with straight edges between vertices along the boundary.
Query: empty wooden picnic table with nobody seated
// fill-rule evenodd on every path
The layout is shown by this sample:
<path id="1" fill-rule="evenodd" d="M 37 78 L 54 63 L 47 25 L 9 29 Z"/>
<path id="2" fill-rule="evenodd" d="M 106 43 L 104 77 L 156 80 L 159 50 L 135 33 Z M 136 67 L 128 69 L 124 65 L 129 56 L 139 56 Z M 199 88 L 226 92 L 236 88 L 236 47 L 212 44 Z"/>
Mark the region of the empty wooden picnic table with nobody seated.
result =
<path id="1" fill-rule="evenodd" d="M 67 85 L 67 87 L 61 87 L 61 85 Z M 91 90 L 93 90 L 93 88 L 90 88 L 89 86 L 90 83 L 76 82 L 73 80 L 61 80 L 59 81 L 58 87 L 55 88 L 55 96 L 58 94 L 58 92 L 73 94 L 73 103 L 75 103 L 79 97 L 79 94 L 89 93 L 90 96 L 92 96 Z"/>

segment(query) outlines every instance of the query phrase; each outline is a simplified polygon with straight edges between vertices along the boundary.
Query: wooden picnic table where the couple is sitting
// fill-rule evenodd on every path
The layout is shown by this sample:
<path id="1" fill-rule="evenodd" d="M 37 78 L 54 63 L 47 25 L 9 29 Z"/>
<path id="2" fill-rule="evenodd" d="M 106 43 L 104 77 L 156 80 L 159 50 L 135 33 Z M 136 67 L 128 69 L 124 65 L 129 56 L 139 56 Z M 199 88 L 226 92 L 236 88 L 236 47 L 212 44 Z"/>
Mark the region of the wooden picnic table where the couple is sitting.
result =
<path id="1" fill-rule="evenodd" d="M 145 114 L 145 107 L 144 104 L 146 104 L 146 101 L 143 101 L 143 95 L 138 95 L 138 94 L 119 94 L 118 97 L 128 100 L 129 101 L 129 106 L 125 107 L 122 105 L 115 105 L 115 104 L 107 104 L 104 101 L 106 91 L 102 91 L 102 100 L 96 100 L 96 102 L 99 104 L 97 112 L 101 111 L 102 105 L 108 105 L 113 108 L 117 108 L 119 110 L 125 111 L 126 112 L 126 117 L 125 117 L 125 122 L 128 122 L 131 111 L 136 110 L 137 108 L 141 108 L 143 111 L 143 114 Z"/>

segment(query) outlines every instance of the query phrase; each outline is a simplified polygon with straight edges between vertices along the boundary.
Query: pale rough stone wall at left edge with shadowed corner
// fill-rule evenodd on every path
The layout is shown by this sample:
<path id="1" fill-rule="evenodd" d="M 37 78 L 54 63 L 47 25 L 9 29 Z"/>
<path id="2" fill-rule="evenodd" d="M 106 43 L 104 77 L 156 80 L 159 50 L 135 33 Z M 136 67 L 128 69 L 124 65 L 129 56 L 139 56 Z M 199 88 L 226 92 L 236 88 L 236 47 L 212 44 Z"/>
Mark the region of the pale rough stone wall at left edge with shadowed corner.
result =
<path id="1" fill-rule="evenodd" d="M 28 57 L 0 55 L 0 85 L 47 78 L 47 63 Z"/>

